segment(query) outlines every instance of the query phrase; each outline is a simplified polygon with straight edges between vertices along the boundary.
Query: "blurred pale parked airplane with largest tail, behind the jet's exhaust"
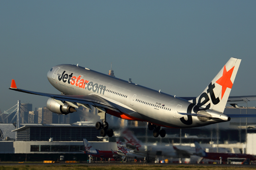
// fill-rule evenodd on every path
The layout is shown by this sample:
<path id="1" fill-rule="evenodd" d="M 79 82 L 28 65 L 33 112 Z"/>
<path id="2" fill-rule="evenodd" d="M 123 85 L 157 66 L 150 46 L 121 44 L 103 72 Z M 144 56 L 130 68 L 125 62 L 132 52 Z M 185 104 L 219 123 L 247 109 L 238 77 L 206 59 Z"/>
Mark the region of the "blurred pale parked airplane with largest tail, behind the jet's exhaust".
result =
<path id="1" fill-rule="evenodd" d="M 135 154 L 143 155 L 151 158 L 164 157 L 164 158 L 190 158 L 192 153 L 188 150 L 183 150 L 182 147 L 143 144 L 137 137 L 132 133 L 131 130 L 124 129 L 121 132 L 121 136 L 125 139 L 125 144 L 128 149 L 134 151 Z"/>

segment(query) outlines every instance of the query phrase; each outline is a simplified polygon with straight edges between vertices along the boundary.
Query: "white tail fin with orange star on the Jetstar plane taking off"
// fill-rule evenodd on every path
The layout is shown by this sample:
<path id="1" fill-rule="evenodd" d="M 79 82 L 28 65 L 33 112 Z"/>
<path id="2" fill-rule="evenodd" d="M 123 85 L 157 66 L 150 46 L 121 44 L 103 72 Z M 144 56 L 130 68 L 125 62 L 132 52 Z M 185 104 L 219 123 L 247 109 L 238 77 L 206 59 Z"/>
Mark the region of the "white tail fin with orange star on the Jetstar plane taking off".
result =
<path id="1" fill-rule="evenodd" d="M 236 78 L 241 59 L 230 58 L 221 71 L 196 99 L 189 102 L 223 113 Z M 195 112 L 195 111 L 194 111 Z M 196 113 L 196 112 L 195 112 Z"/>

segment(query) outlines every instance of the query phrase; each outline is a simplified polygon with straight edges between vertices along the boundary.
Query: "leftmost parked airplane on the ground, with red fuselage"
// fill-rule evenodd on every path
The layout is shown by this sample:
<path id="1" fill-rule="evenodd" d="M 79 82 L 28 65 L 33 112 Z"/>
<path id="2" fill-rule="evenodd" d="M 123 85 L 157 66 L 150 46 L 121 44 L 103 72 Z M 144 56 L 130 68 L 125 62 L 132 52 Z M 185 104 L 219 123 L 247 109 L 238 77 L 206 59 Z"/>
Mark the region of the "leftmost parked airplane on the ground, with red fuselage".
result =
<path id="1" fill-rule="evenodd" d="M 91 155 L 98 158 L 119 158 L 121 156 L 118 156 L 116 154 L 113 154 L 111 150 L 97 150 L 94 149 L 90 143 L 86 140 L 84 140 L 84 153 L 87 155 Z"/>

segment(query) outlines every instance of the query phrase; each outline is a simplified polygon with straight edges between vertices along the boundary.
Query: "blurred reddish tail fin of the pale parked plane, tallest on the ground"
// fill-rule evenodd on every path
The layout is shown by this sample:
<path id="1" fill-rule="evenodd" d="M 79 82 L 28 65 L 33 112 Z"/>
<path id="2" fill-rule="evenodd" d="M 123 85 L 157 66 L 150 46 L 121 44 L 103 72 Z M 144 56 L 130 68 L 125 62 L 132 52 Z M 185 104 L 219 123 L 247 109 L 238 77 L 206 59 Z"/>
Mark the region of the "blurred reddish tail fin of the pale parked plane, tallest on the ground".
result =
<path id="1" fill-rule="evenodd" d="M 142 148 L 140 141 L 136 138 L 136 136 L 134 136 L 134 134 L 130 130 L 123 130 L 122 136 L 125 139 L 125 144 L 127 148 L 138 151 Z"/>

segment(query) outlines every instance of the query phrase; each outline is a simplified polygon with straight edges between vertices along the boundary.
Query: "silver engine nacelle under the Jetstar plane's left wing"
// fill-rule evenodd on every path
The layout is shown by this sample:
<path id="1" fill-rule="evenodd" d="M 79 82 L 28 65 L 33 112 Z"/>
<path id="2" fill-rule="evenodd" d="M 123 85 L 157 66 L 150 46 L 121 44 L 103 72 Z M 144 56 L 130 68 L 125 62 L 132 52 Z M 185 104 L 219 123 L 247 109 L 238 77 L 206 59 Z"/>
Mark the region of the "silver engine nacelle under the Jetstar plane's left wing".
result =
<path id="1" fill-rule="evenodd" d="M 64 115 L 68 113 L 73 113 L 76 111 L 75 108 L 68 105 L 67 103 L 64 103 L 64 105 L 62 106 L 52 98 L 49 98 L 47 100 L 47 108 L 53 113 L 64 114 Z"/>

